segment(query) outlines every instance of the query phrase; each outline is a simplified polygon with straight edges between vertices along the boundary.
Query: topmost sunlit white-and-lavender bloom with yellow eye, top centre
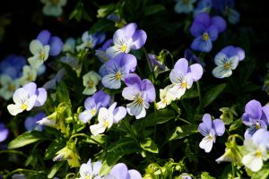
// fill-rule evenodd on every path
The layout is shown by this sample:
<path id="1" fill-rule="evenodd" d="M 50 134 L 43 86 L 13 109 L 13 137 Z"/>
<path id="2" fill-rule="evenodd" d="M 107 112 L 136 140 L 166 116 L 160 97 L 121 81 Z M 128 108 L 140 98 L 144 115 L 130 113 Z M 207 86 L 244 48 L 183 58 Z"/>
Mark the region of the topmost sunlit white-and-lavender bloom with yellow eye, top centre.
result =
<path id="1" fill-rule="evenodd" d="M 131 49 L 137 50 L 143 47 L 147 35 L 144 30 L 137 30 L 136 23 L 129 23 L 122 29 L 116 30 L 113 36 L 114 46 L 108 47 L 108 57 L 114 57 L 119 53 L 129 53 Z"/>

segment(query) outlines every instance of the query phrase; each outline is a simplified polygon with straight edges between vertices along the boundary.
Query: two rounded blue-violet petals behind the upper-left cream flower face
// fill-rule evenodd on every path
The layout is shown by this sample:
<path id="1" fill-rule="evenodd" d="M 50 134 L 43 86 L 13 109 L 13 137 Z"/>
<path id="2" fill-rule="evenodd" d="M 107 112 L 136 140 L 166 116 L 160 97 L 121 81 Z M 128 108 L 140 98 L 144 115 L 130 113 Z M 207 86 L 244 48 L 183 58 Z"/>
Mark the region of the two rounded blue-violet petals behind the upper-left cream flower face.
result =
<path id="1" fill-rule="evenodd" d="M 48 54 L 51 56 L 59 55 L 64 46 L 62 39 L 56 36 L 51 37 L 48 30 L 40 31 L 37 39 L 43 44 L 43 46 L 48 45 L 50 47 Z"/>

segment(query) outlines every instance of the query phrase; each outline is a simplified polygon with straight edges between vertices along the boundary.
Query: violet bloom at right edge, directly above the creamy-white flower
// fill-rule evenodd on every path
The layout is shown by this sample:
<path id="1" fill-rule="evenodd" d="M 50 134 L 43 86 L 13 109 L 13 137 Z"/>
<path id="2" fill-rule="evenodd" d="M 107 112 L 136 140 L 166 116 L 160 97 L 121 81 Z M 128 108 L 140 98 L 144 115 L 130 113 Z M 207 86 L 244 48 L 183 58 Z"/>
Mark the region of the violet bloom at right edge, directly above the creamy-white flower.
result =
<path id="1" fill-rule="evenodd" d="M 258 129 L 266 130 L 269 124 L 269 105 L 262 107 L 261 103 L 255 99 L 249 101 L 242 115 L 242 122 L 248 126 L 245 139 L 251 138 Z"/>

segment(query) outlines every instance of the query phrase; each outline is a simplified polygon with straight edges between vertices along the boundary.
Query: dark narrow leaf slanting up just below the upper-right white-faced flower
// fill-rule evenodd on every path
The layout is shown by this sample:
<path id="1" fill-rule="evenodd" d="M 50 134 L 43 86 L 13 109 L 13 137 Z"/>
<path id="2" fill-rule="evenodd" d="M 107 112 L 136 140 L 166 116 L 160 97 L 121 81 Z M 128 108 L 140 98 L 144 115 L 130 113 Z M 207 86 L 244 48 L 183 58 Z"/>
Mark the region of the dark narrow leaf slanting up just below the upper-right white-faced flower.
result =
<path id="1" fill-rule="evenodd" d="M 204 98 L 202 98 L 202 103 L 199 105 L 198 109 L 203 109 L 209 106 L 225 89 L 226 83 L 219 84 L 205 93 Z"/>

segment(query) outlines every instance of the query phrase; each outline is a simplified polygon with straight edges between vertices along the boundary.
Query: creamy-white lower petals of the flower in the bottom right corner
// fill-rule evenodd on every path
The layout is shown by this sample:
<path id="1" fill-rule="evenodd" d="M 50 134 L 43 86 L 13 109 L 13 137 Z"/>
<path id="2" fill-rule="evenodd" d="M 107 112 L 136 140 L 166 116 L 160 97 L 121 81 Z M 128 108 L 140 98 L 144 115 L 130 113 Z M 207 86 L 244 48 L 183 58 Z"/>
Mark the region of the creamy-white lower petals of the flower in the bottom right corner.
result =
<path id="1" fill-rule="evenodd" d="M 263 160 L 269 157 L 265 145 L 256 145 L 252 140 L 245 140 L 244 147 L 247 155 L 242 158 L 242 164 L 252 172 L 259 171 L 264 164 Z"/>

